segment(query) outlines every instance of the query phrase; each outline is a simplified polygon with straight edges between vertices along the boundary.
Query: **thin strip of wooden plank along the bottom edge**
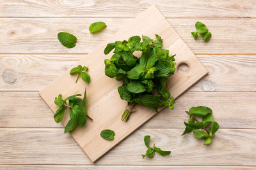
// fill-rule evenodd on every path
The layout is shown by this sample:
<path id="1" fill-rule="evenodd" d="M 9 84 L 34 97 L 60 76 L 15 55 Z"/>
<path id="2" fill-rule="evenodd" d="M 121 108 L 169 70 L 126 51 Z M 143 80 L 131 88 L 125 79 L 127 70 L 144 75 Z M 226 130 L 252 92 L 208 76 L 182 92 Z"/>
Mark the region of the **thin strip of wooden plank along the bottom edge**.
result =
<path id="1" fill-rule="evenodd" d="M 156 170 L 156 169 L 189 169 L 189 170 L 197 170 L 197 169 L 221 169 L 221 170 L 230 170 L 230 169 L 238 169 L 238 170 L 245 170 L 245 169 L 253 169 L 254 166 L 61 166 L 61 165 L 4 165 L 0 168 L 3 169 L 10 169 L 10 170 L 26 170 L 26 169 L 47 169 L 47 170 L 57 170 L 57 169 L 76 169 L 76 170 L 84 170 L 84 169 L 93 169 L 93 170 L 127 170 L 127 169 L 145 169 L 145 170 Z"/>

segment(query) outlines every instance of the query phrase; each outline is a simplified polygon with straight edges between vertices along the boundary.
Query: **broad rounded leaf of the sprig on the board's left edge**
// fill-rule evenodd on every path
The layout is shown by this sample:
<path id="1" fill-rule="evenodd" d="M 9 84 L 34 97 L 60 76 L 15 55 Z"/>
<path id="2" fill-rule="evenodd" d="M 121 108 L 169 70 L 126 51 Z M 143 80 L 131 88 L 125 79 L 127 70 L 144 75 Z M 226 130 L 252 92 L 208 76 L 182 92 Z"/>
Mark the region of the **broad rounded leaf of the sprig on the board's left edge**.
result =
<path id="1" fill-rule="evenodd" d="M 86 123 L 86 115 L 84 114 L 83 108 L 78 105 L 74 105 L 73 108 L 70 109 L 70 118 L 72 122 L 78 126 L 84 126 Z"/>

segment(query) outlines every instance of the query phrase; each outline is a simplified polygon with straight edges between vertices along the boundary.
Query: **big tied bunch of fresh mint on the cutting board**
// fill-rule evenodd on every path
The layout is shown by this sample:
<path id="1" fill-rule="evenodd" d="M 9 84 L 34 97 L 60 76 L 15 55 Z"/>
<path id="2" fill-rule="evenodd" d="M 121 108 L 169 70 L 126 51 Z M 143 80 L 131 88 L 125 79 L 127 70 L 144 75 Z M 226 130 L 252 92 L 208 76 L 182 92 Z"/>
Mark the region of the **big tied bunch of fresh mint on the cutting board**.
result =
<path id="1" fill-rule="evenodd" d="M 121 99 L 128 102 L 122 120 L 127 121 L 132 107 L 138 103 L 157 112 L 157 106 L 173 109 L 174 99 L 166 90 L 167 78 L 175 71 L 174 56 L 164 50 L 163 39 L 156 35 L 156 40 L 147 36 L 132 36 L 128 41 L 109 43 L 104 53 L 114 50 L 111 59 L 105 59 L 105 74 L 117 81 L 124 81 L 118 87 Z M 140 58 L 133 55 L 141 51 Z"/>

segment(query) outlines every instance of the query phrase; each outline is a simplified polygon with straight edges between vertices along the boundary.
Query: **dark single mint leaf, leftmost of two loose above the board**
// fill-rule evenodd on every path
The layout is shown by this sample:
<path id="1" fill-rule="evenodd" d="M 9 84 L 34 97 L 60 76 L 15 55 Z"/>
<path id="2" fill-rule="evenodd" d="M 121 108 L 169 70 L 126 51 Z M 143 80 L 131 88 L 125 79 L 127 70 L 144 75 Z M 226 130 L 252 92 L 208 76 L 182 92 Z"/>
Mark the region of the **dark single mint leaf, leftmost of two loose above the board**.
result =
<path id="1" fill-rule="evenodd" d="M 58 34 L 58 39 L 60 41 L 60 43 L 63 46 L 66 46 L 67 48 L 73 48 L 74 46 L 76 46 L 76 36 L 68 33 L 68 32 L 60 32 Z"/>

